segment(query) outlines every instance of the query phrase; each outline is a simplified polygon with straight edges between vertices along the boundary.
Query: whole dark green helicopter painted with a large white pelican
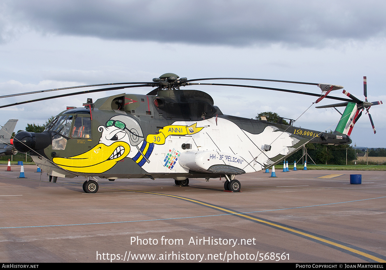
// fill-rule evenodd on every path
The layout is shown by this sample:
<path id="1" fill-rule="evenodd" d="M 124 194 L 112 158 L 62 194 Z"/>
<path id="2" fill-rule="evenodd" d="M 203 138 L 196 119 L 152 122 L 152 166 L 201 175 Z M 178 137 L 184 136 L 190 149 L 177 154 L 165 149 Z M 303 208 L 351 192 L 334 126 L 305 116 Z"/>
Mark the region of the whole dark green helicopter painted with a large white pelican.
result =
<path id="1" fill-rule="evenodd" d="M 179 186 L 187 186 L 189 178 L 208 181 L 223 177 L 224 189 L 237 192 L 241 185 L 236 175 L 271 167 L 305 143 L 351 143 L 349 135 L 362 111 L 368 112 L 370 106 L 382 103 L 367 102 L 366 88 L 366 101 L 361 101 L 345 91 L 350 99 L 328 96 L 330 91 L 343 88 L 330 84 L 301 83 L 319 86 L 322 89 L 320 95 L 261 86 L 202 83 L 219 79 L 300 83 L 246 78 L 188 80 L 166 73 L 150 83 L 117 83 L 108 88 L 41 98 L 32 101 L 97 91 L 156 87 L 147 95 L 120 94 L 95 102 L 88 99 L 83 108 L 70 108 L 60 113 L 42 133 L 17 133 L 14 146 L 19 152 L 29 152 L 34 162 L 50 176 L 50 181 L 52 177 L 54 182 L 57 177 L 86 177 L 83 190 L 87 193 L 98 191 L 98 183 L 91 179 L 95 177 L 110 181 L 173 178 Z M 104 85 L 108 84 L 92 86 Z M 320 108 L 346 106 L 346 109 L 334 133 L 318 132 L 293 127 L 292 123 L 283 125 L 223 115 L 207 93 L 180 89 L 187 85 L 239 86 L 300 93 L 317 96 L 316 102 L 323 98 L 345 101 Z M 74 88 L 80 87 L 86 86 Z M 58 89 L 44 91 L 55 90 Z M 5 106 L 28 102 L 31 101 Z"/>

